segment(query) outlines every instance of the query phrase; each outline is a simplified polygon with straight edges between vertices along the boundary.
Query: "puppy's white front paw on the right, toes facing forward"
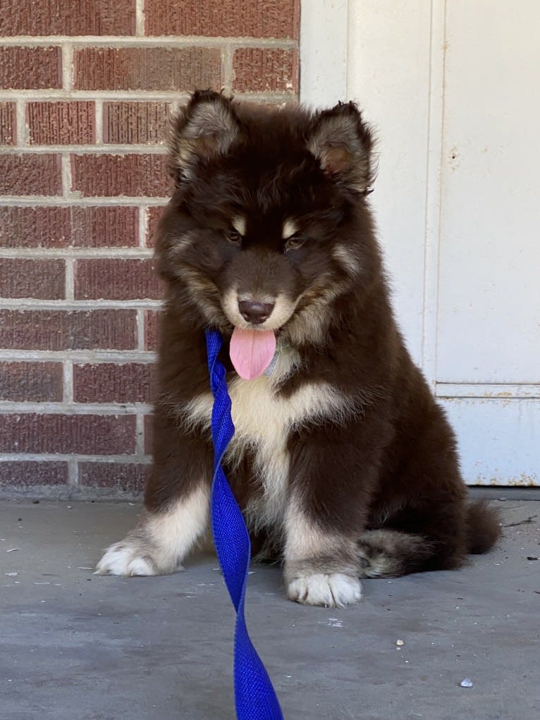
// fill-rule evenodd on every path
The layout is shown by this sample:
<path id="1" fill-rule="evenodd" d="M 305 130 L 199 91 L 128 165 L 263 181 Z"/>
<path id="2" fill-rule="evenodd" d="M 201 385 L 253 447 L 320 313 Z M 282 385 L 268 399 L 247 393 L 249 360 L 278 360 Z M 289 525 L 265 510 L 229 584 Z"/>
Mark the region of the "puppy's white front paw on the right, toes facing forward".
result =
<path id="1" fill-rule="evenodd" d="M 303 605 L 344 608 L 361 598 L 360 581 L 356 577 L 334 572 L 332 575 L 302 575 L 289 582 L 287 598 Z"/>

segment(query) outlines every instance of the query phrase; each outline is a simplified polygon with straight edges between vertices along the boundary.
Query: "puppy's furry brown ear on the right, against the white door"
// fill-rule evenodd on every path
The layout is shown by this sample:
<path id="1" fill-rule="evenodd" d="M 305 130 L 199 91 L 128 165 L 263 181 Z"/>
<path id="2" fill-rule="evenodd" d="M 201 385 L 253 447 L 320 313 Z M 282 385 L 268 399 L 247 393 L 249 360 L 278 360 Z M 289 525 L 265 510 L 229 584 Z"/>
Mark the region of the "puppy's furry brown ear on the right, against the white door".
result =
<path id="1" fill-rule="evenodd" d="M 316 115 L 307 148 L 328 176 L 361 194 L 372 192 L 372 130 L 353 102 L 339 103 Z"/>

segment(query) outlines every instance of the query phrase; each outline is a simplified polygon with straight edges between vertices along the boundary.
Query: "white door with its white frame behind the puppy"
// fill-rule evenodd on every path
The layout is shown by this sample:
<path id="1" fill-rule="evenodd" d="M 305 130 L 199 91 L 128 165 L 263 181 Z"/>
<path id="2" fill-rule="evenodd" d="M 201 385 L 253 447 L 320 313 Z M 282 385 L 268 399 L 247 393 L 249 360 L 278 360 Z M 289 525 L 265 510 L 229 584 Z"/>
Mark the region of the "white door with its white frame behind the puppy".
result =
<path id="1" fill-rule="evenodd" d="M 315 0 L 302 13 L 302 100 L 356 99 L 378 129 L 372 198 L 395 307 L 467 482 L 540 485 L 540 4 Z"/>

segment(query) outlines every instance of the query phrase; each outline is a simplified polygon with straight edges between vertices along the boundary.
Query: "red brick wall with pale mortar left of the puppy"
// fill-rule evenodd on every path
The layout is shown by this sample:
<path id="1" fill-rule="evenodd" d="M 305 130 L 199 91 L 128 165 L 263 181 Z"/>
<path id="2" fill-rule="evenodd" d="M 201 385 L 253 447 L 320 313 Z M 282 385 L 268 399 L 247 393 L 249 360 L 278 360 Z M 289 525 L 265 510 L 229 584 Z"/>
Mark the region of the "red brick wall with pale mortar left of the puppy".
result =
<path id="1" fill-rule="evenodd" d="M 298 91 L 300 0 L 0 13 L 0 493 L 136 492 L 150 463 L 167 116 Z"/>

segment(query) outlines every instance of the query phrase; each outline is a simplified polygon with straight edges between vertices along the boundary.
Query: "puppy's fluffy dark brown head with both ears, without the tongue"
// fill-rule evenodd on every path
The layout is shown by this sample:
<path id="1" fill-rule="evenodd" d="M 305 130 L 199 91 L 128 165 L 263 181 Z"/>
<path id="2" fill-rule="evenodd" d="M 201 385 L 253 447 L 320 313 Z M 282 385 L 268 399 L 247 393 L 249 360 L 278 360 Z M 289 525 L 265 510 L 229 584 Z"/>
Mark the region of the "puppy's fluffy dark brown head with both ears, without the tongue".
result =
<path id="1" fill-rule="evenodd" d="M 316 338 L 361 272 L 351 215 L 370 142 L 353 106 L 321 122 L 195 94 L 172 141 L 177 191 L 161 223 L 161 273 L 225 333 Z"/>

